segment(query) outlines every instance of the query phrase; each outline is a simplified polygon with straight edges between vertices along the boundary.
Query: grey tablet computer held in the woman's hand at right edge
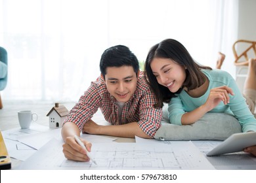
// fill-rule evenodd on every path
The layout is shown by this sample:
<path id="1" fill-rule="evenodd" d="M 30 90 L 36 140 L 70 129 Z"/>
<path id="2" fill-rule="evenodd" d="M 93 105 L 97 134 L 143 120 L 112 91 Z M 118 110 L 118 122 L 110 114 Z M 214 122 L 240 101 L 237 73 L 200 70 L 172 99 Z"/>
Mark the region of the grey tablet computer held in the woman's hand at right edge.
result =
<path id="1" fill-rule="evenodd" d="M 218 146 L 213 148 L 206 156 L 217 156 L 231 152 L 240 152 L 244 148 L 256 145 L 256 132 L 234 133 Z"/>

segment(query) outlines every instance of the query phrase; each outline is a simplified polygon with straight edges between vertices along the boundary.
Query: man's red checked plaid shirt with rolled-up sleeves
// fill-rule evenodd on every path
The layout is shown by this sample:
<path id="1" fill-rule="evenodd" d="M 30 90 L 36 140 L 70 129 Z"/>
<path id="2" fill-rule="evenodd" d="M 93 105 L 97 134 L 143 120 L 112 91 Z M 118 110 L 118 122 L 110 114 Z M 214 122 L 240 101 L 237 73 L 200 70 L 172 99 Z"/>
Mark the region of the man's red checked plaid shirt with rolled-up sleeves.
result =
<path id="1" fill-rule="evenodd" d="M 106 84 L 101 77 L 91 83 L 88 90 L 79 99 L 79 102 L 70 110 L 66 120 L 63 122 L 74 122 L 80 129 L 93 117 L 100 108 L 104 118 L 112 125 L 129 124 L 137 122 L 140 129 L 150 137 L 154 137 L 161 125 L 162 110 L 155 108 L 156 97 L 150 90 L 150 86 L 140 72 L 135 93 L 125 103 L 121 114 L 121 122 L 118 120 L 116 99 L 110 95 Z"/>

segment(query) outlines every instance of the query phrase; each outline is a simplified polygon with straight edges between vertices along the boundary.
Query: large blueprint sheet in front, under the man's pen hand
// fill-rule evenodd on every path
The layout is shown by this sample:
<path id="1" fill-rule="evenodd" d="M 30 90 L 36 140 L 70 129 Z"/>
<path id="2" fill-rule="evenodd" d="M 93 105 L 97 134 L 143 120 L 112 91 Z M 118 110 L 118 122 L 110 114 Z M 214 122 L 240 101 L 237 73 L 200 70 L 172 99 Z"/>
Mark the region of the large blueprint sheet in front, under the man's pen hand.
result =
<path id="1" fill-rule="evenodd" d="M 19 169 L 215 169 L 192 142 L 94 143 L 91 154 L 97 165 L 68 160 L 62 153 L 62 142 L 52 139 Z"/>

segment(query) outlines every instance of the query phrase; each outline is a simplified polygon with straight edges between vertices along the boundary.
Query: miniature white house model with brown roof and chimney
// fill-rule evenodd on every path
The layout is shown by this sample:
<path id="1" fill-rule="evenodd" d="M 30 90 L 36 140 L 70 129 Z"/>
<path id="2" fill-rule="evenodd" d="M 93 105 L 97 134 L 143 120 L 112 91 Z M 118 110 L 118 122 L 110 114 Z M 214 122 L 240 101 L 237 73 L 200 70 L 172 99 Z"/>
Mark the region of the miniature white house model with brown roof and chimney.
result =
<path id="1" fill-rule="evenodd" d="M 68 116 L 68 112 L 68 109 L 64 107 L 64 105 L 58 105 L 58 103 L 55 103 L 55 107 L 53 107 L 46 115 L 49 116 L 49 127 L 60 127 L 66 116 Z"/>

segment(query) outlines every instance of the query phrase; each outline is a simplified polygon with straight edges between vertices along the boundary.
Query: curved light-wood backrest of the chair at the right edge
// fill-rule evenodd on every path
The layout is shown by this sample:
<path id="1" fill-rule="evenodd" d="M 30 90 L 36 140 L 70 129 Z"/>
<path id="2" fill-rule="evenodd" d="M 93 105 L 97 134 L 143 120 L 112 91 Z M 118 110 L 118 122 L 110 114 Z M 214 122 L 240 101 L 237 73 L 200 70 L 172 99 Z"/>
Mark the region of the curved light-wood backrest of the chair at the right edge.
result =
<path id="1" fill-rule="evenodd" d="M 238 44 L 244 44 L 247 45 L 247 47 L 245 48 L 244 52 L 238 54 L 237 51 L 237 47 Z M 238 40 L 236 42 L 234 42 L 233 46 L 232 46 L 233 52 L 234 52 L 234 57 L 235 57 L 235 61 L 234 61 L 234 65 L 248 65 L 248 55 L 249 53 L 253 54 L 254 52 L 254 58 L 256 58 L 256 42 L 255 41 L 247 41 L 247 40 Z"/>

